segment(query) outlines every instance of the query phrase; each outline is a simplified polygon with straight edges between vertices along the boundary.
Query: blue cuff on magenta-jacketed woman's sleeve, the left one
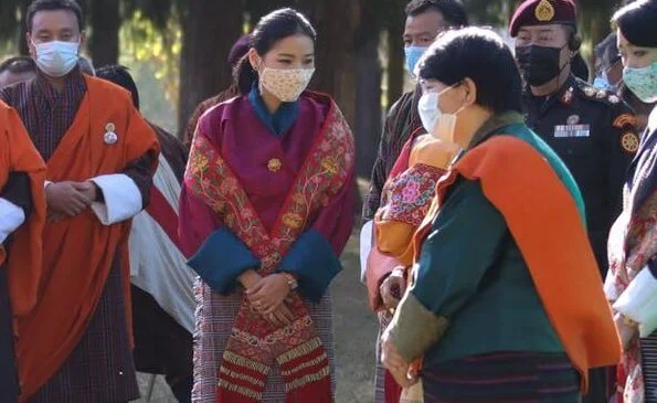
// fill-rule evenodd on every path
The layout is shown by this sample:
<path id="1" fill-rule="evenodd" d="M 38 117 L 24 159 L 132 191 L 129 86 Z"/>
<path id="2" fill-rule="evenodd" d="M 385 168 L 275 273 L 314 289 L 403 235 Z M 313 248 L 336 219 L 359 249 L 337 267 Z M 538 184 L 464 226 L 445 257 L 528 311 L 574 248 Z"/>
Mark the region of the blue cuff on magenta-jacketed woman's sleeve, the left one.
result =
<path id="1" fill-rule="evenodd" d="M 210 288 L 224 295 L 233 290 L 242 273 L 259 267 L 246 245 L 225 227 L 210 234 L 187 264 Z"/>

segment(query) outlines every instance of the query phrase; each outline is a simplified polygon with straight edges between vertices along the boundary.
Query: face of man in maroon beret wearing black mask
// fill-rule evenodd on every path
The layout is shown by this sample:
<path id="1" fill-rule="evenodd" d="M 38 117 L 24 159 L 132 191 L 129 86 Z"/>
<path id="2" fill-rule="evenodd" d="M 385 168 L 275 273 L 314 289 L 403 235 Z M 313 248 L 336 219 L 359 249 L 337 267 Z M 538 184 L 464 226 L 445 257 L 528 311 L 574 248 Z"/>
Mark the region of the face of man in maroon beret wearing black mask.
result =
<path id="1" fill-rule="evenodd" d="M 516 38 L 516 59 L 524 81 L 532 87 L 570 73 L 573 51 L 568 46 L 572 30 L 561 24 L 527 25 Z"/>

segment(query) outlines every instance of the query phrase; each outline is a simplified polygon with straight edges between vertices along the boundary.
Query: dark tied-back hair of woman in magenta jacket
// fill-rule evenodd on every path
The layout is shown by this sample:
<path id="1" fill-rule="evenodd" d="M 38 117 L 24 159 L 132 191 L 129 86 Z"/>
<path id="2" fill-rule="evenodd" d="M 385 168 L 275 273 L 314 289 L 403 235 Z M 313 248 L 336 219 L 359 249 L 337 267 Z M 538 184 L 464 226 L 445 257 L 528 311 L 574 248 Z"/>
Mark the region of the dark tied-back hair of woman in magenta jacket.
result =
<path id="1" fill-rule="evenodd" d="M 293 9 L 276 10 L 263 17 L 255 25 L 251 34 L 251 47 L 264 56 L 276 42 L 299 33 L 317 43 L 317 32 L 304 14 Z M 258 81 L 257 72 L 251 66 L 247 55 L 242 57 L 235 70 L 235 81 L 242 94 L 248 93 Z"/>

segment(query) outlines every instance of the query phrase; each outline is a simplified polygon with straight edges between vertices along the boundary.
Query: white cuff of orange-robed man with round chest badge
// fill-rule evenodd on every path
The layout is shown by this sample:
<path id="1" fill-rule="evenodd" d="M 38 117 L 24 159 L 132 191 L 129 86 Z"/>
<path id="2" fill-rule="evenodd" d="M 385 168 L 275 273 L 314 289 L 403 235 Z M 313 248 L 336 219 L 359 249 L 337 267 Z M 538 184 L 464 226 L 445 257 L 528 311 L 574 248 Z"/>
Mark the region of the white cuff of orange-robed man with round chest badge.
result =
<path id="1" fill-rule="evenodd" d="M 104 203 L 92 203 L 92 210 L 104 225 L 131 219 L 142 210 L 141 192 L 127 174 L 104 174 L 93 178 L 92 182 L 100 188 L 105 199 Z"/>

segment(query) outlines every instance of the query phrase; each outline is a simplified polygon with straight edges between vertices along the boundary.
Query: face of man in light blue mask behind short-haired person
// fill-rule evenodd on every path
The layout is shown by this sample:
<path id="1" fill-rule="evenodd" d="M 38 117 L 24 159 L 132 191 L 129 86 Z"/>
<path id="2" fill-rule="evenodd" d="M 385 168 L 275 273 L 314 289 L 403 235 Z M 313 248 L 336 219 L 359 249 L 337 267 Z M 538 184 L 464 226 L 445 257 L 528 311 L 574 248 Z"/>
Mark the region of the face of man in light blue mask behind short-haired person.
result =
<path id="1" fill-rule="evenodd" d="M 420 57 L 436 40 L 438 33 L 445 31 L 447 24 L 443 14 L 435 9 L 428 9 L 416 15 L 406 18 L 404 26 L 404 52 L 406 54 L 406 68 L 411 74 Z"/>

